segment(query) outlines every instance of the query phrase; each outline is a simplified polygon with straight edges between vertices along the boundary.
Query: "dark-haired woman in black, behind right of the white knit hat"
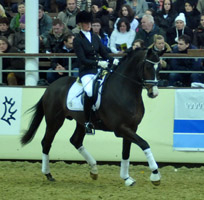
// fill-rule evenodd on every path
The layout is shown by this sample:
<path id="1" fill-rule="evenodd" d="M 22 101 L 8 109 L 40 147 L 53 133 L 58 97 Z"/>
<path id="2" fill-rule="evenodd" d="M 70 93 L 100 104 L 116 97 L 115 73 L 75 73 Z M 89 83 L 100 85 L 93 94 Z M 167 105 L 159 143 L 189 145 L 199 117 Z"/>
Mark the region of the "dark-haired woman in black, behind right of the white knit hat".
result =
<path id="1" fill-rule="evenodd" d="M 200 24 L 200 12 L 192 0 L 185 0 L 184 14 L 186 17 L 186 26 L 194 31 Z"/>

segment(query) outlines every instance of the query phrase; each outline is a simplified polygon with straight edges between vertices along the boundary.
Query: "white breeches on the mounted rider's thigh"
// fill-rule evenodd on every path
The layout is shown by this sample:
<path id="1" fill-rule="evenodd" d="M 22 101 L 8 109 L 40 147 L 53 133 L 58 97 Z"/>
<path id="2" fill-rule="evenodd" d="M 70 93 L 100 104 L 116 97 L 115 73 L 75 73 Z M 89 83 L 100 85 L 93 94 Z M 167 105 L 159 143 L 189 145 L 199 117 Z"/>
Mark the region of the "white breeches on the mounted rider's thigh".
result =
<path id="1" fill-rule="evenodd" d="M 94 74 L 86 74 L 81 78 L 81 82 L 84 87 L 84 90 L 89 97 L 92 97 L 93 95 L 94 77 L 95 77 Z"/>

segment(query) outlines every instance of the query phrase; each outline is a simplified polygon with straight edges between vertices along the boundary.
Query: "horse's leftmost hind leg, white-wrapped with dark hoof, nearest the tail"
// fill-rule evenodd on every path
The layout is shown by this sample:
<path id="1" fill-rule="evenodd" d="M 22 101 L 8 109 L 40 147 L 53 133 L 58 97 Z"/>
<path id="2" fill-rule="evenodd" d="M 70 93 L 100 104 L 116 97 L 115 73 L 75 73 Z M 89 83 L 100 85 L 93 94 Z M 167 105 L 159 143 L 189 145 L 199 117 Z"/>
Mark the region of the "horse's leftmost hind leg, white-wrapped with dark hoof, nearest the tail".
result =
<path id="1" fill-rule="evenodd" d="M 48 120 L 47 120 L 48 121 Z M 52 122 L 52 123 L 51 123 Z M 46 132 L 42 139 L 42 173 L 45 174 L 49 181 L 54 181 L 50 173 L 49 167 L 49 152 L 51 149 L 52 142 L 55 138 L 57 131 L 60 129 L 64 122 L 64 118 L 53 119 L 47 123 Z"/>

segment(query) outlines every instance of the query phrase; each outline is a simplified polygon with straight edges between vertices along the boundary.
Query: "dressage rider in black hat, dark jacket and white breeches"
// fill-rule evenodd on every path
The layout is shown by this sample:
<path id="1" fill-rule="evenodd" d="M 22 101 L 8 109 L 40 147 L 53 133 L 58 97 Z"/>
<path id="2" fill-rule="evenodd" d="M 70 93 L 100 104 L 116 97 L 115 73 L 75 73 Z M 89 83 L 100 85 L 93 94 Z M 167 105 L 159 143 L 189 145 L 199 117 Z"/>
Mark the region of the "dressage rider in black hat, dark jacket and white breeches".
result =
<path id="1" fill-rule="evenodd" d="M 92 133 L 93 125 L 90 122 L 93 95 L 93 81 L 98 68 L 107 68 L 108 64 L 118 65 L 119 60 L 111 57 L 103 47 L 99 37 L 91 32 L 92 14 L 81 11 L 76 16 L 76 23 L 80 27 L 79 34 L 74 39 L 74 51 L 79 60 L 79 77 L 85 90 L 84 113 L 85 132 Z M 99 59 L 99 56 L 103 60 Z"/>

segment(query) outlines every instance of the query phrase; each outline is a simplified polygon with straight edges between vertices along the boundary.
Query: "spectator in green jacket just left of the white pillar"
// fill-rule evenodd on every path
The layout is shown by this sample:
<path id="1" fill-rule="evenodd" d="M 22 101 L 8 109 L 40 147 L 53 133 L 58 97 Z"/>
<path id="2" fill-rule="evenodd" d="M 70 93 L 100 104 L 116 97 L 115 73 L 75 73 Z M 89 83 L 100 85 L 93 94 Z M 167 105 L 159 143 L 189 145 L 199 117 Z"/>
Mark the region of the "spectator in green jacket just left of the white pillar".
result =
<path id="1" fill-rule="evenodd" d="M 11 19 L 10 28 L 13 31 L 19 31 L 20 29 L 20 18 L 25 14 L 25 3 L 18 3 L 18 13 Z"/>

